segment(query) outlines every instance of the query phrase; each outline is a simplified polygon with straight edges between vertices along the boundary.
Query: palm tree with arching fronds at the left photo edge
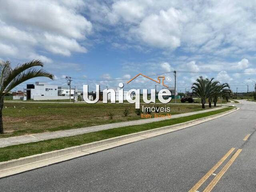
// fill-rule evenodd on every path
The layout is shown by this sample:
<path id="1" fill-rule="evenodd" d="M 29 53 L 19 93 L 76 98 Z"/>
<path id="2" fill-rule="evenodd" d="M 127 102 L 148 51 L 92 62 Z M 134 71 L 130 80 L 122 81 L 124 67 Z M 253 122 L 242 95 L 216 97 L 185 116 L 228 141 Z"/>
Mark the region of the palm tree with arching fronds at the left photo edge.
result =
<path id="1" fill-rule="evenodd" d="M 36 66 L 43 67 L 40 60 L 32 60 L 16 66 L 12 69 L 9 61 L 0 61 L 0 134 L 4 133 L 2 109 L 4 106 L 4 96 L 14 87 L 34 77 L 48 77 L 53 79 L 54 76 L 43 69 L 37 69 Z"/>

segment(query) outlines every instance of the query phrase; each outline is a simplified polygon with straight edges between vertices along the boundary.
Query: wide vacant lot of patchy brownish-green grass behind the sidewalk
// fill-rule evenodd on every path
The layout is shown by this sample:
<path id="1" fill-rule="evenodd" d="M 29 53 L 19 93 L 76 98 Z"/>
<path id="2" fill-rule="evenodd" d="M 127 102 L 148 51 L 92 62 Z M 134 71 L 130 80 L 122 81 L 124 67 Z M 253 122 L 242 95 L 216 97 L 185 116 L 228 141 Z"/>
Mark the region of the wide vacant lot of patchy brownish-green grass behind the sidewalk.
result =
<path id="1" fill-rule="evenodd" d="M 152 106 L 152 104 L 144 104 L 144 106 Z M 168 106 L 171 107 L 172 115 L 202 110 L 199 105 Z M 126 117 L 123 114 L 125 108 L 130 111 Z M 5 134 L 0 135 L 0 138 L 138 120 L 140 116 L 135 114 L 134 109 L 135 104 L 5 102 L 3 108 Z M 113 119 L 108 116 L 109 112 L 114 114 Z"/>

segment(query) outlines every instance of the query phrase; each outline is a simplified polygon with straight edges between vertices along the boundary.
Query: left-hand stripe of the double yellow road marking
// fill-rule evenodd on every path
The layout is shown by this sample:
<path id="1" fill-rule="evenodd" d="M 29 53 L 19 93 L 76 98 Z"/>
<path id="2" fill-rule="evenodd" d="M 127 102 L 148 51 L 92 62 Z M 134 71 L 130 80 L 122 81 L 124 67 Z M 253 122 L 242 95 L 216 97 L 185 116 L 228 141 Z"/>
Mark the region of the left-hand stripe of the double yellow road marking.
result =
<path id="1" fill-rule="evenodd" d="M 198 188 L 200 188 L 200 186 L 214 173 L 214 171 L 226 160 L 226 158 L 228 158 L 228 156 L 230 156 L 230 154 L 235 150 L 235 148 L 231 148 L 220 160 L 219 162 L 213 166 L 213 168 L 211 168 L 210 171 L 208 171 L 208 173 L 206 173 L 202 179 L 200 179 L 195 185 L 194 187 L 192 187 L 189 192 L 195 192 Z"/>

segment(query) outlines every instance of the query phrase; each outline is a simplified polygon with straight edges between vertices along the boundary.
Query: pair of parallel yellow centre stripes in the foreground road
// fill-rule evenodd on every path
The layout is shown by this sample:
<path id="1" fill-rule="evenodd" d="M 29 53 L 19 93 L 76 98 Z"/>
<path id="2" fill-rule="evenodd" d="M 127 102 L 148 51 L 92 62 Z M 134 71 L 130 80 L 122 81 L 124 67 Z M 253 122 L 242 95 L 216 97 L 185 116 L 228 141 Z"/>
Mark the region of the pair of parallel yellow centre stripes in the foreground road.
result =
<path id="1" fill-rule="evenodd" d="M 190 190 L 189 192 L 196 192 L 198 188 L 214 173 L 216 169 L 232 154 L 232 152 L 235 150 L 235 148 L 231 148 L 219 161 L 216 165 L 213 166 L 213 168 L 206 173 L 202 179 L 200 179 Z M 235 154 L 230 158 L 230 160 L 227 162 L 227 164 L 222 168 L 222 170 L 216 175 L 216 177 L 210 182 L 210 184 L 204 189 L 204 192 L 210 192 L 214 186 L 218 183 L 220 178 L 224 175 L 224 173 L 228 170 L 228 168 L 232 165 L 232 163 L 236 160 L 238 155 L 242 149 L 238 149 Z"/>

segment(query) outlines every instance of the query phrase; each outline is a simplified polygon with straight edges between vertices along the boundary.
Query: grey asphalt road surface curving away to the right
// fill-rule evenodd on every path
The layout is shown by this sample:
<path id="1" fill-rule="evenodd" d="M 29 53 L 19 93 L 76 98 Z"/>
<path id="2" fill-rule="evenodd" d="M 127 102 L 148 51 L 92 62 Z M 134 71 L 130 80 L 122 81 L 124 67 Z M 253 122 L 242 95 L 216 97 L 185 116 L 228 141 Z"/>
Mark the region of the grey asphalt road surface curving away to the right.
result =
<path id="1" fill-rule="evenodd" d="M 237 112 L 190 128 L 2 178 L 0 191 L 186 192 L 236 148 L 197 189 L 201 192 L 240 148 L 212 191 L 255 192 L 256 102 L 238 106 Z"/>

